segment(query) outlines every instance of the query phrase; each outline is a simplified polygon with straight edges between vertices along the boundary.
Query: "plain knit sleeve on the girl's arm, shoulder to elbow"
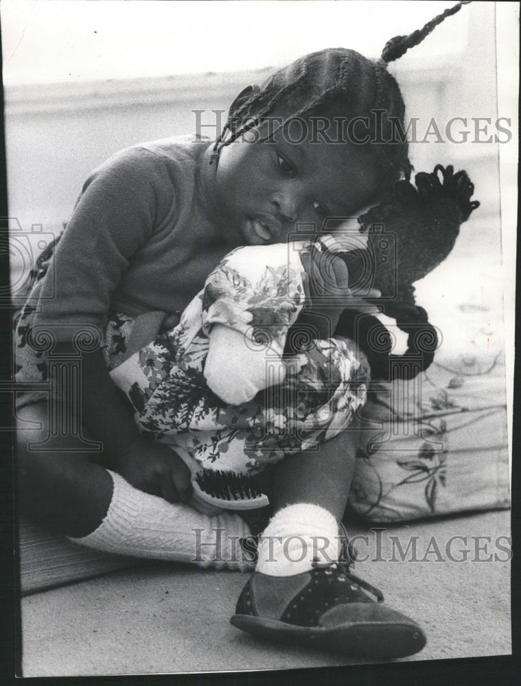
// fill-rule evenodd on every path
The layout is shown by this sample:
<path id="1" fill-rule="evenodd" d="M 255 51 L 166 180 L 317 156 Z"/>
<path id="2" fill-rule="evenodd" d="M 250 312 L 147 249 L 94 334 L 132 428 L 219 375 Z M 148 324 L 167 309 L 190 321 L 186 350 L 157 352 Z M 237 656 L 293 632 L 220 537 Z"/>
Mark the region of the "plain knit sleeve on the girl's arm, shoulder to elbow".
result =
<path id="1" fill-rule="evenodd" d="M 121 274 L 174 202 L 163 174 L 157 156 L 133 147 L 84 183 L 45 276 L 35 318 L 58 341 L 71 340 L 84 324 L 102 323 Z"/>

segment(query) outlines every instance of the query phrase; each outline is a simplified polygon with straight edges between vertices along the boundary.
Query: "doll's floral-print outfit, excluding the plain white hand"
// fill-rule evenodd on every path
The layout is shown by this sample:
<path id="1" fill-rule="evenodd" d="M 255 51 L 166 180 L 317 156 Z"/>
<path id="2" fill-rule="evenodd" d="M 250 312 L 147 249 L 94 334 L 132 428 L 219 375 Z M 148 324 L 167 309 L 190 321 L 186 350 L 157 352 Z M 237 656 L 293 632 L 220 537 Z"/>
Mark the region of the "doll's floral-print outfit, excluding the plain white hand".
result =
<path id="1" fill-rule="evenodd" d="M 283 358 L 281 383 L 270 377 L 270 354 L 278 361 L 305 293 L 299 252 L 268 248 L 231 252 L 178 326 L 111 372 L 142 431 L 211 469 L 257 473 L 285 455 L 313 449 L 347 427 L 366 399 L 369 365 L 346 339 L 310 340 L 299 354 Z M 248 403 L 228 405 L 205 382 L 215 323 L 244 333 L 259 354 L 268 351 L 269 385 Z"/>

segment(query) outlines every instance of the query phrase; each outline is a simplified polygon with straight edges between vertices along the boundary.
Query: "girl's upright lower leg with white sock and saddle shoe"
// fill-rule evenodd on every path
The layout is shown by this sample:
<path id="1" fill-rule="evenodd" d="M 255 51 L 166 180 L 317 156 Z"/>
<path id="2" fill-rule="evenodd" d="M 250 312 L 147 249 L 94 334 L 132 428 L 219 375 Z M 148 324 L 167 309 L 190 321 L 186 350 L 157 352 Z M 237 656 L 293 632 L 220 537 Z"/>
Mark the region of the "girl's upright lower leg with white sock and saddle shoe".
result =
<path id="1" fill-rule="evenodd" d="M 359 657 L 404 657 L 424 647 L 426 637 L 413 619 L 386 606 L 382 593 L 343 561 L 339 525 L 359 435 L 343 431 L 319 452 L 285 458 L 274 470 L 275 514 L 231 617 L 234 626 Z"/>

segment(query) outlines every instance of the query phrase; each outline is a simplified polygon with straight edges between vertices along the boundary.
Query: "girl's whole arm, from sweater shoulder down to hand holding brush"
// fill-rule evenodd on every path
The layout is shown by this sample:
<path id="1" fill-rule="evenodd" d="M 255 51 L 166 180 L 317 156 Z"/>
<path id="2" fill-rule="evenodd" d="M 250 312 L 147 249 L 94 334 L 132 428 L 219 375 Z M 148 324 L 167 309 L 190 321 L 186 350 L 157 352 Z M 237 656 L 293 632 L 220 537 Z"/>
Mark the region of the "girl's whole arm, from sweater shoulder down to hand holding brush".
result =
<path id="1" fill-rule="evenodd" d="M 35 318 L 58 341 L 58 350 L 71 351 L 73 335 L 86 325 L 102 329 L 122 274 L 152 235 L 157 216 L 172 205 L 172 185 L 158 182 L 160 174 L 149 153 L 130 150 L 84 185 L 45 277 L 42 311 Z M 173 451 L 140 436 L 102 351 L 83 354 L 81 384 L 81 420 L 102 442 L 108 465 L 148 493 L 188 499 L 189 470 Z"/>

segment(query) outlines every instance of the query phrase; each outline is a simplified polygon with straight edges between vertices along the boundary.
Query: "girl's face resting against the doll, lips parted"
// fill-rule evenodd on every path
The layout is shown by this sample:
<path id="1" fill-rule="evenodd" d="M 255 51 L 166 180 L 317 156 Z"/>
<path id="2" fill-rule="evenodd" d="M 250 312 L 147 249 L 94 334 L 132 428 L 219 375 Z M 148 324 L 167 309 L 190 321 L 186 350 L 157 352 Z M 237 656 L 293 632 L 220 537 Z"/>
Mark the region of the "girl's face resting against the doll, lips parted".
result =
<path id="1" fill-rule="evenodd" d="M 282 243 L 299 228 L 309 236 L 326 217 L 352 217 L 375 196 L 376 165 L 369 151 L 320 136 L 315 142 L 311 125 L 303 142 L 292 143 L 303 132 L 293 124 L 269 142 L 262 140 L 267 132 L 261 127 L 254 132 L 257 142 L 248 132 L 222 148 L 212 179 L 213 206 L 229 244 Z"/>

